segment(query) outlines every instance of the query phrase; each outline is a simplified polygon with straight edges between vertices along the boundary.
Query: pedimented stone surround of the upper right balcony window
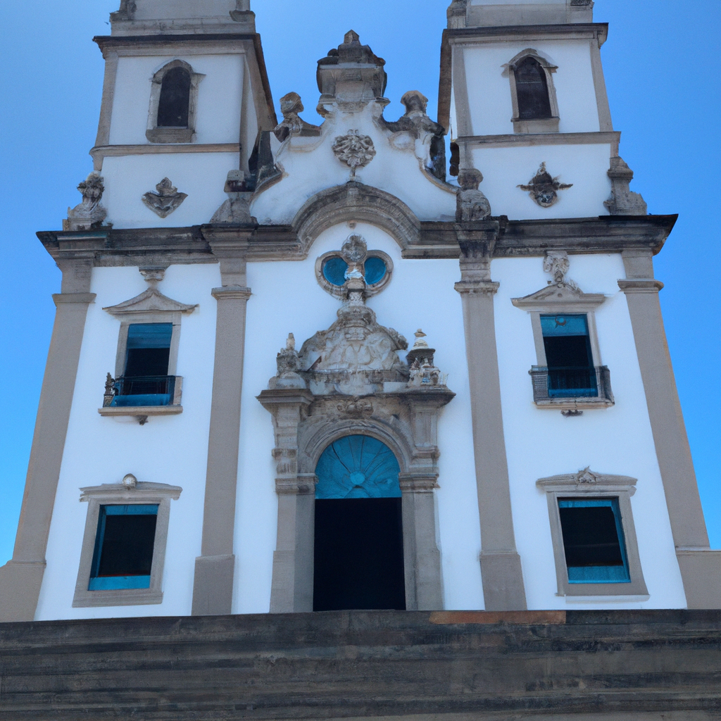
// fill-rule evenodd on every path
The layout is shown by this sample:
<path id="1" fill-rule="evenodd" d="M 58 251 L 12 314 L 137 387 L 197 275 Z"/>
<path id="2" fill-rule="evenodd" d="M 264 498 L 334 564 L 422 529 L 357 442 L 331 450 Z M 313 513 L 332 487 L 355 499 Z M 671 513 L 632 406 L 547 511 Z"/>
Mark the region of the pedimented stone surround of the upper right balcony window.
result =
<path id="1" fill-rule="evenodd" d="M 551 287 L 551 286 L 549 286 Z M 545 290 L 545 289 L 544 289 Z M 558 314 L 583 314 L 588 319 L 588 336 L 590 339 L 591 355 L 593 356 L 593 367 L 603 365 L 601 362 L 601 348 L 598 345 L 598 333 L 596 331 L 596 309 L 606 301 L 602 293 L 581 293 L 580 296 L 570 298 L 559 298 L 553 293 L 547 298 L 512 298 L 511 302 L 516 308 L 528 311 L 531 316 L 531 327 L 534 332 L 534 345 L 536 347 L 536 365 L 541 368 L 547 367 L 546 347 L 541 329 L 541 315 Z M 536 407 L 553 410 L 578 410 L 579 407 L 586 409 L 607 408 L 614 405 L 613 401 L 606 398 L 568 398 L 549 399 L 548 402 L 536 402 Z"/>

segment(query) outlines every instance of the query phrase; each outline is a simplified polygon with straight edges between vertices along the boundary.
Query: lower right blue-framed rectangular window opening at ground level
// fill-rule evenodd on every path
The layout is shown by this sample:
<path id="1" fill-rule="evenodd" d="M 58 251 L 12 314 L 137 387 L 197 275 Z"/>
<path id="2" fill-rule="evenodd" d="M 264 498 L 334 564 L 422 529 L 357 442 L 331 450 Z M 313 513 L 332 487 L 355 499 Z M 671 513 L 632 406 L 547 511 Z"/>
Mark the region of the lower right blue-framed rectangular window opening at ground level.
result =
<path id="1" fill-rule="evenodd" d="M 630 583 L 618 498 L 559 498 L 569 583 Z"/>

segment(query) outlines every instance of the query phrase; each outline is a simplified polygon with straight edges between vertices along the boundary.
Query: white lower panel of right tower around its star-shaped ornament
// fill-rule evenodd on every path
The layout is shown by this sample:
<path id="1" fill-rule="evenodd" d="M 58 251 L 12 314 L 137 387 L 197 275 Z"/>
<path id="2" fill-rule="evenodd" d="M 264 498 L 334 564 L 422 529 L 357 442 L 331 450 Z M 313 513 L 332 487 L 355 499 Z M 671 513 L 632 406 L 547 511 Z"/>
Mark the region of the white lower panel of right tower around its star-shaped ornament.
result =
<path id="1" fill-rule="evenodd" d="M 592 218 L 607 216 L 603 205 L 611 197 L 609 158 L 611 146 L 546 145 L 546 146 L 479 146 L 473 149 L 474 166 L 482 171 L 480 189 L 488 198 L 492 213 L 513 220 L 531 218 Z M 541 162 L 559 182 L 572 184 L 558 191 L 557 203 L 541 208 L 518 185 L 528 185 Z"/>

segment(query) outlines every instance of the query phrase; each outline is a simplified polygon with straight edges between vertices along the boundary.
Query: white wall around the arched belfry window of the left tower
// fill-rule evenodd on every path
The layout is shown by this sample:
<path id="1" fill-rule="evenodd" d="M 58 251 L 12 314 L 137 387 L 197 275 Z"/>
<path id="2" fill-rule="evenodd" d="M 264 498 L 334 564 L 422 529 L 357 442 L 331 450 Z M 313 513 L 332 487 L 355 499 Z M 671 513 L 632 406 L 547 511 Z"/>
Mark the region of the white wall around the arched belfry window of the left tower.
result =
<path id="1" fill-rule="evenodd" d="M 196 143 L 237 143 L 245 57 L 234 55 L 143 56 L 118 59 L 112 102 L 111 145 L 151 145 L 146 138 L 151 81 L 173 60 L 205 75 L 198 85 Z"/>

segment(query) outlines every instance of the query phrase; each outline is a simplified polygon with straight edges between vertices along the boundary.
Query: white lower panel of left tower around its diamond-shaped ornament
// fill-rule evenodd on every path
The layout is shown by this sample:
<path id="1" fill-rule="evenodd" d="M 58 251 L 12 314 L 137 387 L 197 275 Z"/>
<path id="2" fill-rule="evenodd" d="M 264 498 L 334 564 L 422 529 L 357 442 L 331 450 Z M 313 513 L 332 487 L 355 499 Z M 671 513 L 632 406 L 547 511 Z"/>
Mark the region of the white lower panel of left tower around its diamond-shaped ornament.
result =
<path id="1" fill-rule="evenodd" d="M 107 222 L 115 228 L 178 228 L 209 223 L 228 199 L 224 193 L 228 171 L 237 169 L 236 153 L 187 153 L 119 156 L 105 159 L 102 176 Z M 182 205 L 167 218 L 159 218 L 143 203 L 143 195 L 156 193 L 164 177 L 179 193 Z"/>

